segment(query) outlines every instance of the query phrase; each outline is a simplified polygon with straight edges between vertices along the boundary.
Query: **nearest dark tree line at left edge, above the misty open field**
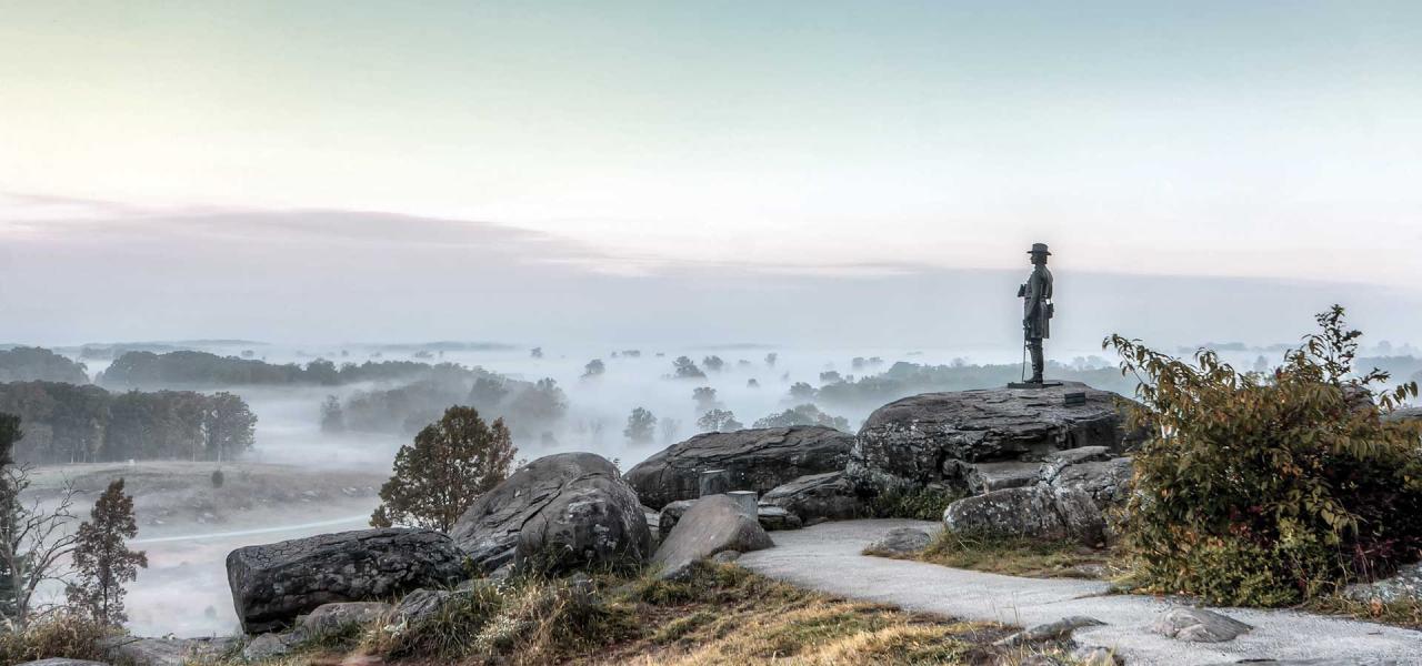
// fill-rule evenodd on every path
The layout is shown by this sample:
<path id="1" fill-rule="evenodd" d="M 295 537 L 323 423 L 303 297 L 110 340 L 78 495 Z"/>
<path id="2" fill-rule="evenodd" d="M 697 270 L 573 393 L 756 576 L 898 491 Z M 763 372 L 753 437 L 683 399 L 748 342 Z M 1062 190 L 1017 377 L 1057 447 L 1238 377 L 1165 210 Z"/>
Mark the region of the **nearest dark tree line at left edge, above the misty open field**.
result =
<path id="1" fill-rule="evenodd" d="M 0 383 L 0 412 L 24 419 L 14 457 L 30 463 L 222 460 L 252 449 L 257 422 L 232 393 L 61 382 Z"/>

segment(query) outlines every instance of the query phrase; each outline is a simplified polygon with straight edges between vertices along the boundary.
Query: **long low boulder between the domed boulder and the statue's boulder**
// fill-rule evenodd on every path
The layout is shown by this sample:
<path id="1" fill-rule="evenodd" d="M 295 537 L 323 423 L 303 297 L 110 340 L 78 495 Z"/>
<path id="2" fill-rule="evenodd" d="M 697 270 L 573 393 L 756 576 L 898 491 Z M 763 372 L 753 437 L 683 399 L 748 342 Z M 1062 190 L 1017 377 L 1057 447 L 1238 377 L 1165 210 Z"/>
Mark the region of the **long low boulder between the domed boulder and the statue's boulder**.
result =
<path id="1" fill-rule="evenodd" d="M 627 471 L 627 483 L 653 508 L 701 496 L 700 476 L 727 470 L 731 490 L 765 493 L 806 474 L 845 469 L 853 435 L 823 426 L 702 433 L 671 444 Z"/>

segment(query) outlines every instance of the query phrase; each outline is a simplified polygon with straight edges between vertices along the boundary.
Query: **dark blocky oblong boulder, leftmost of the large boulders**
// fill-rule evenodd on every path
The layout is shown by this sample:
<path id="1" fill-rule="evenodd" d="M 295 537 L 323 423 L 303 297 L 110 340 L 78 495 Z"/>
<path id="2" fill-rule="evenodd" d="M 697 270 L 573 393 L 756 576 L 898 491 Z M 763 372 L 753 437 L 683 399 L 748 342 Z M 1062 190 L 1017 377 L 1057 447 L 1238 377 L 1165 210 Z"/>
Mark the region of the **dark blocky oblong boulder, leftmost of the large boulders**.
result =
<path id="1" fill-rule="evenodd" d="M 237 548 L 228 554 L 228 584 L 242 629 L 263 633 L 324 604 L 454 585 L 465 578 L 462 559 L 432 530 L 358 530 Z"/>

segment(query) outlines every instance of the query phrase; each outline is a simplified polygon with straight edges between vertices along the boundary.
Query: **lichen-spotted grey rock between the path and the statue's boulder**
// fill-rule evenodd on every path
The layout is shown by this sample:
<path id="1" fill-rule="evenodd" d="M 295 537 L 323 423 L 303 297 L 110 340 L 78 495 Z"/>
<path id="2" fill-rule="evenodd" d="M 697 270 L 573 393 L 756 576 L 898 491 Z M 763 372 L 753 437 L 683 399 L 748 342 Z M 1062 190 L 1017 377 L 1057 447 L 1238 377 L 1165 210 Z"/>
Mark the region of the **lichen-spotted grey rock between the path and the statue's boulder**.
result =
<path id="1" fill-rule="evenodd" d="M 954 533 L 1075 540 L 1086 545 L 1099 545 L 1106 528 L 1101 508 L 1089 494 L 1049 486 L 964 497 L 948 504 L 943 523 Z"/>

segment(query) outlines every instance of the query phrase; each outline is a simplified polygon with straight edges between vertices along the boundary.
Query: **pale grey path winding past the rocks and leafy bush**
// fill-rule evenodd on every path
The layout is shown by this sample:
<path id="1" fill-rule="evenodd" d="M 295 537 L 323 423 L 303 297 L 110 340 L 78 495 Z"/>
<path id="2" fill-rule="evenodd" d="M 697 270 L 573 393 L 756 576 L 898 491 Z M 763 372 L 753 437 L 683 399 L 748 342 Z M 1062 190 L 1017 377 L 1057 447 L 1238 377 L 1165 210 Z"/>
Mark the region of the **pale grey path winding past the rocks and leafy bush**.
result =
<path id="1" fill-rule="evenodd" d="M 771 533 L 775 548 L 745 554 L 739 564 L 833 595 L 963 619 L 1032 626 L 1086 615 L 1106 626 L 1078 629 L 1076 640 L 1115 648 L 1130 666 L 1257 659 L 1422 665 L 1422 632 L 1408 629 L 1293 611 L 1231 608 L 1216 611 L 1253 625 L 1251 632 L 1226 643 L 1186 643 L 1149 630 L 1172 602 L 1103 595 L 1108 585 L 1099 581 L 1014 578 L 859 554 L 883 533 L 903 525 L 940 527 L 909 520 L 855 520 L 776 531 Z"/>

